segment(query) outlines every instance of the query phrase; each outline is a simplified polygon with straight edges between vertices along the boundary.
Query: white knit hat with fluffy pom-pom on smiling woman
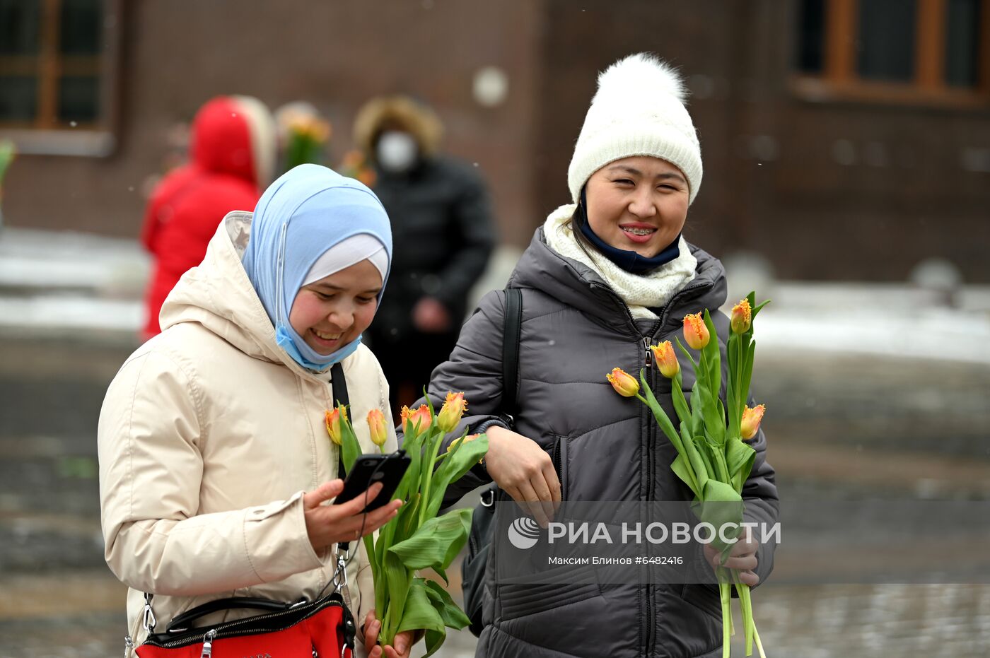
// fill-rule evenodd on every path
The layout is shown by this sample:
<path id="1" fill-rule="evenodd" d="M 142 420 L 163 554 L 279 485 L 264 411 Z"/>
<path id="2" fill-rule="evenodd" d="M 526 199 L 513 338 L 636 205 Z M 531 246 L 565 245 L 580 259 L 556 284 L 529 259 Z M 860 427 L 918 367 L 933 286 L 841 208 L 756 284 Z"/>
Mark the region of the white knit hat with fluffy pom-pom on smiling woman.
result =
<path id="1" fill-rule="evenodd" d="M 677 71 L 646 52 L 620 59 L 601 73 L 567 169 L 574 203 L 591 174 L 633 155 L 652 155 L 679 168 L 687 178 L 688 203 L 693 203 L 701 186 L 701 146 L 685 95 Z"/>

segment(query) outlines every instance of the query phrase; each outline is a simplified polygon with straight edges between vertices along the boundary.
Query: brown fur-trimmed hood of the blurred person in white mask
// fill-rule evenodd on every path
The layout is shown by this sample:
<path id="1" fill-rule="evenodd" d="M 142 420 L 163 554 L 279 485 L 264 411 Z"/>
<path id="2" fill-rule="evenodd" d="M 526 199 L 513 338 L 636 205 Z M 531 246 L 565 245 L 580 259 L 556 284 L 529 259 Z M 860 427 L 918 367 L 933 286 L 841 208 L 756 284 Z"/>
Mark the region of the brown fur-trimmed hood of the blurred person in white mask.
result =
<path id="1" fill-rule="evenodd" d="M 354 119 L 354 143 L 374 160 L 374 146 L 385 127 L 407 131 L 416 138 L 423 155 L 437 153 L 444 125 L 427 106 L 406 96 L 373 98 L 357 112 Z"/>

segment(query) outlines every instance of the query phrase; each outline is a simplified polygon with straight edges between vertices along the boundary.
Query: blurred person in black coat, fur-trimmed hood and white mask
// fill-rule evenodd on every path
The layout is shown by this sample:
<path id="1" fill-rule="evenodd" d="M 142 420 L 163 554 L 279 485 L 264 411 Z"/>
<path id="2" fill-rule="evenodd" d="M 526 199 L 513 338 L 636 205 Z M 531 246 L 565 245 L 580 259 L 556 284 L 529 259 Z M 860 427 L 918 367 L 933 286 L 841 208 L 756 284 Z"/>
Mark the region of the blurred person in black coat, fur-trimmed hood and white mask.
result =
<path id="1" fill-rule="evenodd" d="M 442 133 L 430 108 L 404 96 L 372 99 L 354 123 L 396 245 L 389 292 L 368 329 L 393 407 L 418 398 L 446 361 L 495 245 L 485 185 L 438 152 Z"/>

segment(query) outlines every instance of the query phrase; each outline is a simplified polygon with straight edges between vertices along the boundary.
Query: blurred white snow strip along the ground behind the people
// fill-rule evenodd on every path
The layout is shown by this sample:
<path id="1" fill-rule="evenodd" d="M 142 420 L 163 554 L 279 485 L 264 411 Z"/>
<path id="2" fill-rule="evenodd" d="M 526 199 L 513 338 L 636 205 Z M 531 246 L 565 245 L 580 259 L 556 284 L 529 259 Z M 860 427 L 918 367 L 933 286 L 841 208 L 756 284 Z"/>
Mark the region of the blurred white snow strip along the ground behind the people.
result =
<path id="1" fill-rule="evenodd" d="M 505 285 L 518 255 L 499 249 L 479 289 Z M 0 331 L 133 337 L 143 322 L 148 271 L 148 255 L 135 240 L 4 229 Z M 767 293 L 773 302 L 756 320 L 760 350 L 990 364 L 990 286 L 962 288 L 952 308 L 908 284 L 778 281 Z"/>

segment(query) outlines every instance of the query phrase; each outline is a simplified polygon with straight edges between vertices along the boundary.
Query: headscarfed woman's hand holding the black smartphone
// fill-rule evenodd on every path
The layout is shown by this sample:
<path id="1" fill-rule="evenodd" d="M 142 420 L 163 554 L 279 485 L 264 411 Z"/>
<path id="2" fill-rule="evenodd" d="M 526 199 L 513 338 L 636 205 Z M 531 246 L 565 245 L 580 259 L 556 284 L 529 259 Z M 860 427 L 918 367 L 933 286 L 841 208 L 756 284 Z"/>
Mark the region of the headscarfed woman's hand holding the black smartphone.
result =
<path id="1" fill-rule="evenodd" d="M 315 491 L 303 494 L 303 516 L 310 543 L 317 551 L 332 544 L 354 541 L 371 534 L 390 521 L 402 507 L 402 501 L 390 501 L 377 510 L 365 513 L 364 506 L 381 491 L 381 483 L 341 505 L 324 505 L 344 491 L 344 480 L 325 482 Z"/>

